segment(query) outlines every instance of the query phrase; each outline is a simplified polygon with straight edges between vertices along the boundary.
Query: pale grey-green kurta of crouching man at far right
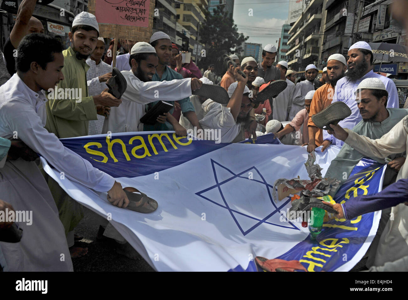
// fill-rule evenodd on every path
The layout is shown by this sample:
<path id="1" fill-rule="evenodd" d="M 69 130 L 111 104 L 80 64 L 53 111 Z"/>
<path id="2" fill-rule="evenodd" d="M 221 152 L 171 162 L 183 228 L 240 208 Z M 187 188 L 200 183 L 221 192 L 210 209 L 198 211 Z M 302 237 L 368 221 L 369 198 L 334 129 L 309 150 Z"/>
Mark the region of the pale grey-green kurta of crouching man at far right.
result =
<path id="1" fill-rule="evenodd" d="M 402 118 L 408 115 L 408 109 L 388 108 L 390 116 L 382 122 L 372 122 L 361 120 L 353 128 L 355 133 L 361 136 L 368 136 L 370 139 L 377 139 L 384 136 L 388 131 L 392 129 Z M 355 165 L 363 158 L 364 155 L 359 151 L 353 149 L 348 144 L 343 144 L 339 154 L 332 160 L 330 167 L 324 177 L 337 178 L 343 184 Z M 395 154 L 390 156 L 391 159 L 397 157 Z M 384 158 L 370 157 L 377 162 L 385 164 Z M 345 172 L 345 173 L 344 173 Z"/>

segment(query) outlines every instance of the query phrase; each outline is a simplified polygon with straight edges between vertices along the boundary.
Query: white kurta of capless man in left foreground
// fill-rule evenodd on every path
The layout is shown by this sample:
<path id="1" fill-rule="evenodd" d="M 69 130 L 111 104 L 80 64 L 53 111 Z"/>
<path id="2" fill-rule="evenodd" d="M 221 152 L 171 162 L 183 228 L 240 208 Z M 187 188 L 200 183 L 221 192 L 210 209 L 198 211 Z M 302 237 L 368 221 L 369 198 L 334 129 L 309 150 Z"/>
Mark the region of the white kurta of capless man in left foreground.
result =
<path id="1" fill-rule="evenodd" d="M 43 93 L 32 91 L 14 74 L 0 87 L 0 137 L 12 138 L 16 132 L 19 139 L 67 178 L 96 191 L 111 189 L 114 178 L 65 148 L 44 128 L 45 102 Z M 31 225 L 19 223 L 24 231 L 19 243 L 0 242 L 9 270 L 73 271 L 58 209 L 35 162 L 7 161 L 0 169 L 0 191 L 2 200 L 16 210 L 32 211 L 33 216 Z"/>

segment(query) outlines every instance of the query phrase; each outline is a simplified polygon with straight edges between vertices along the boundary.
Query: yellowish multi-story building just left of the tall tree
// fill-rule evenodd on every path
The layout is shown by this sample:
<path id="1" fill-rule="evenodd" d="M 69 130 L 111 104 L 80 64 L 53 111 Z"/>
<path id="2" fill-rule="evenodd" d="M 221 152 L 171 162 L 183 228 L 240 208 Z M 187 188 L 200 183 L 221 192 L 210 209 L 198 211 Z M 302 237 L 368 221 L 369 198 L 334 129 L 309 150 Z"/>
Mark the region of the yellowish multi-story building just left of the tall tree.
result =
<path id="1" fill-rule="evenodd" d="M 188 38 L 187 34 L 183 33 L 182 49 L 191 52 L 193 60 L 195 60 L 202 47 L 204 47 L 197 40 L 200 38 L 200 26 L 205 22 L 207 7 L 207 0 L 180 0 L 175 3 L 177 22 L 188 33 Z"/>

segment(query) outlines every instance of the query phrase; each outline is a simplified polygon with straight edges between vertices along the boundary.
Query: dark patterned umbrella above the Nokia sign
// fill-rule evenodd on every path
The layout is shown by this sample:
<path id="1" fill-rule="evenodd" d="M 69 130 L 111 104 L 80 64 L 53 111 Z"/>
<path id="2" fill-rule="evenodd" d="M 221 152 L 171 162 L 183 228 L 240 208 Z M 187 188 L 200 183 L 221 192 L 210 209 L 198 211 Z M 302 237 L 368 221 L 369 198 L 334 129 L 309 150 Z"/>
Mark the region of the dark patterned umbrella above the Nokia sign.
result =
<path id="1" fill-rule="evenodd" d="M 374 59 L 385 59 L 388 62 L 408 62 L 407 48 L 400 44 L 388 44 L 388 43 L 368 43 L 373 51 Z"/>

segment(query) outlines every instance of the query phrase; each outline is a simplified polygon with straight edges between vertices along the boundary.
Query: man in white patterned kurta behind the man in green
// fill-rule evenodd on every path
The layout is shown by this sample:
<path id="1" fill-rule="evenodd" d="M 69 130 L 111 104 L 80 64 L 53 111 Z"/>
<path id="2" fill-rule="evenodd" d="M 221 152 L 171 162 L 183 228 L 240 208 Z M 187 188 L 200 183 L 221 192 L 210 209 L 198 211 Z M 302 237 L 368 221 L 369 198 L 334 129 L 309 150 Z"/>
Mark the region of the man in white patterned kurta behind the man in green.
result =
<path id="1" fill-rule="evenodd" d="M 105 41 L 99 37 L 96 43 L 95 50 L 91 56 L 86 59 L 86 64 L 89 65 L 89 70 L 86 72 L 86 84 L 88 85 L 88 93 L 90 95 L 98 95 L 107 89 L 106 81 L 112 76 L 112 67 L 103 62 L 102 56 L 105 51 Z M 106 115 L 109 114 L 109 108 L 106 108 Z M 89 121 L 89 135 L 101 134 L 105 116 L 98 115 L 98 120 Z"/>

